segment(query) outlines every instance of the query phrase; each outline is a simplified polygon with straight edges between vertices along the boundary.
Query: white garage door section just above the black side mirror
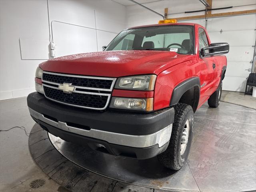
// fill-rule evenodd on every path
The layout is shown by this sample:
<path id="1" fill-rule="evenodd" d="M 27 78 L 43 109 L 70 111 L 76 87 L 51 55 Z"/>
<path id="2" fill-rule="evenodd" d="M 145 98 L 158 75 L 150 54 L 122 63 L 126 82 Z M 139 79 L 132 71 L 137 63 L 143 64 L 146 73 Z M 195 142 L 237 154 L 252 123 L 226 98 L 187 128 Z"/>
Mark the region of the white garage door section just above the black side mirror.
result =
<path id="1" fill-rule="evenodd" d="M 255 30 L 209 32 L 212 43 L 227 42 L 230 46 L 253 46 Z"/>

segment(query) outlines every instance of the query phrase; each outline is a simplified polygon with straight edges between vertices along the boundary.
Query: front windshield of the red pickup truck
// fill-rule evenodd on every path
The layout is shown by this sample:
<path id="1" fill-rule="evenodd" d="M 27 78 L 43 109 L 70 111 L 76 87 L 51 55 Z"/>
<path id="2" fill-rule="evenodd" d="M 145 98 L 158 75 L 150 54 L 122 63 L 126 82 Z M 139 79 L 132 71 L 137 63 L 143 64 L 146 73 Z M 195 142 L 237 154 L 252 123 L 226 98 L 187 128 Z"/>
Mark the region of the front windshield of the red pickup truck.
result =
<path id="1" fill-rule="evenodd" d="M 193 54 L 193 44 L 193 26 L 154 26 L 124 30 L 105 50 L 164 50 Z"/>

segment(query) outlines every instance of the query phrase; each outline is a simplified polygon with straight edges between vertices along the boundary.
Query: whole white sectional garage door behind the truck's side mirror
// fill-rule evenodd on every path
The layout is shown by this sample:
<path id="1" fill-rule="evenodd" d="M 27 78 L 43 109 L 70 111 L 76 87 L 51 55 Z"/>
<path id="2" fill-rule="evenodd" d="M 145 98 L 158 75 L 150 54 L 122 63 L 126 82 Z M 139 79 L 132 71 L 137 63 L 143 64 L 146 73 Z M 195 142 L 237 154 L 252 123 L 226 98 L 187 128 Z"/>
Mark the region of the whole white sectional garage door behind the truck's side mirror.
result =
<path id="1" fill-rule="evenodd" d="M 207 31 L 212 43 L 227 42 L 227 70 L 223 90 L 244 92 L 252 68 L 256 40 L 256 14 L 208 18 Z"/>

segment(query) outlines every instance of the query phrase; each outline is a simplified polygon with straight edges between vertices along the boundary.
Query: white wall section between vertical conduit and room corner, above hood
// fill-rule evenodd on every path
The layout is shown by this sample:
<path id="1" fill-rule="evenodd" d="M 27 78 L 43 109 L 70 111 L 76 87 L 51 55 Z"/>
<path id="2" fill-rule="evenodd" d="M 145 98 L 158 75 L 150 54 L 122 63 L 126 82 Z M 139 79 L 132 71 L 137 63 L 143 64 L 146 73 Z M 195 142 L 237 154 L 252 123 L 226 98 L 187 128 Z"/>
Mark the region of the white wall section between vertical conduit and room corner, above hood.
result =
<path id="1" fill-rule="evenodd" d="M 125 28 L 126 8 L 111 0 L 49 0 L 49 10 L 56 56 L 101 51 Z"/>

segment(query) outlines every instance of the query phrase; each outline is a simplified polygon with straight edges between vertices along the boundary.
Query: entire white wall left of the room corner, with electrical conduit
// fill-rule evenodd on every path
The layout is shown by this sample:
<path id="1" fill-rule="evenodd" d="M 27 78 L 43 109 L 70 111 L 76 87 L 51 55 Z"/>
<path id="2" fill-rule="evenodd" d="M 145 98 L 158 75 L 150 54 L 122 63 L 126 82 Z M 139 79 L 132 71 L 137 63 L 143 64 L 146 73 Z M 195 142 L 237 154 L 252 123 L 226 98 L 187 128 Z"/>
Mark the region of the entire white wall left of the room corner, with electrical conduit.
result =
<path id="1" fill-rule="evenodd" d="M 101 51 L 125 28 L 126 8 L 112 0 L 48 0 L 48 5 L 50 22 L 69 23 L 53 22 L 57 56 Z M 34 91 L 34 73 L 49 58 L 48 45 L 47 0 L 0 0 L 0 100 Z"/>

